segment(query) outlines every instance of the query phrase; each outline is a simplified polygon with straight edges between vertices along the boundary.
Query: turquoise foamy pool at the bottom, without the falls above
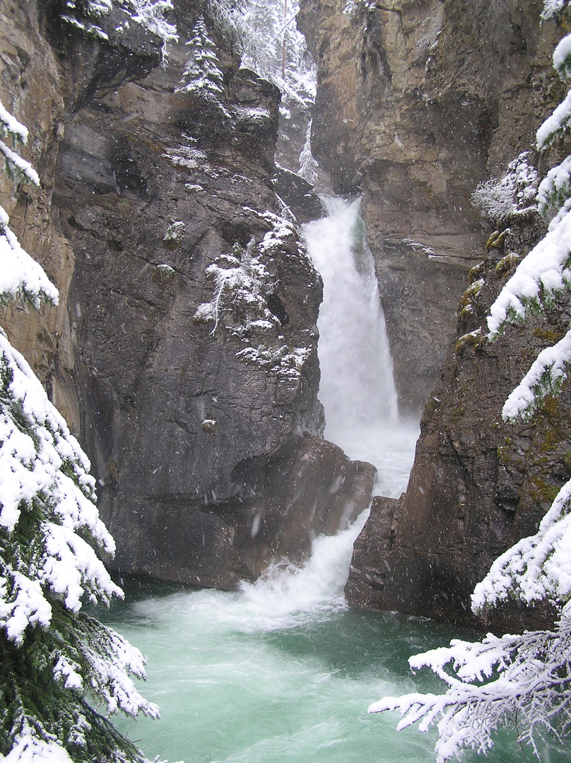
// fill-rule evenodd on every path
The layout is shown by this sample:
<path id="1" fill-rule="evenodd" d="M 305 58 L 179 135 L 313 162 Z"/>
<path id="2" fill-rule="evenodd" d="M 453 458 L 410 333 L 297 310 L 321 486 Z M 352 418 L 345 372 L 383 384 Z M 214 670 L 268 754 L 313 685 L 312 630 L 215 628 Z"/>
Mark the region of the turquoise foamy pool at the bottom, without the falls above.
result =
<path id="1" fill-rule="evenodd" d="M 251 590 L 164 596 L 157 584 L 152 597 L 111 613 L 108 621 L 146 655 L 142 691 L 160 705 L 158 721 L 116 722 L 147 758 L 434 763 L 434 733 L 397 734 L 394 716 L 366 709 L 387 694 L 436 688 L 413 677 L 406 661 L 446 643 L 450 629 L 350 610 L 342 597 L 307 605 L 296 594 L 289 598 L 290 589 L 283 607 L 271 602 L 281 586 L 253 588 L 254 597 Z M 519 763 L 513 745 L 512 753 L 504 749 L 494 760 Z M 476 756 L 466 761 L 476 763 Z"/>

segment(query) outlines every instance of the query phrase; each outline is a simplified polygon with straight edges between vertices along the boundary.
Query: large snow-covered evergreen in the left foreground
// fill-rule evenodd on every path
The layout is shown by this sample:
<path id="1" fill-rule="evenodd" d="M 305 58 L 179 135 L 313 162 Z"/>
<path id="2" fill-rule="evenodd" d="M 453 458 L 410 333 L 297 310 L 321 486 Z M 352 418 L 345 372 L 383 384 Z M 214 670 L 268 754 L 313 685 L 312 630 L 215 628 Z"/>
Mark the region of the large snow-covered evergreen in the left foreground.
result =
<path id="1" fill-rule="evenodd" d="M 0 103 L 12 179 L 39 185 L 16 146 L 27 130 Z M 0 208 L 0 297 L 57 302 L 44 270 Z M 0 328 L 0 759 L 143 761 L 111 725 L 123 710 L 157 716 L 130 674 L 144 659 L 82 613 L 82 597 L 122 596 L 95 551 L 115 544 L 95 507 L 89 461 L 29 365 Z"/>

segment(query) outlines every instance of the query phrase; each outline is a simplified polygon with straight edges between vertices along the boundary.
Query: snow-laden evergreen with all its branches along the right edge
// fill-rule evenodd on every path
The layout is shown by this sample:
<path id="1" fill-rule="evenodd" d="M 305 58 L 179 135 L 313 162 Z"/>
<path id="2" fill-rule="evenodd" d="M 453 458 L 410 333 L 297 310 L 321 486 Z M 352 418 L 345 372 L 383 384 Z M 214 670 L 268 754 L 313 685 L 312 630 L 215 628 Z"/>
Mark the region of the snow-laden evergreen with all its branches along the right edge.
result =
<path id="1" fill-rule="evenodd" d="M 568 11 L 568 0 L 547 0 L 544 18 Z M 561 79 L 571 77 L 571 34 L 553 53 Z M 571 129 L 571 91 L 537 131 L 546 148 Z M 522 260 L 488 317 L 489 340 L 528 311 L 556 305 L 556 292 L 571 286 L 571 156 L 548 172 L 537 193 L 541 212 L 551 217 L 544 239 Z M 505 420 L 527 419 L 546 394 L 557 394 L 571 362 L 571 330 L 544 349 L 503 408 Z M 553 604 L 557 620 L 550 630 L 514 636 L 491 633 L 480 642 L 455 640 L 450 647 L 415 655 L 411 668 L 431 668 L 448 686 L 445 694 L 386 697 L 369 710 L 399 710 L 398 728 L 437 724 L 437 761 L 462 749 L 489 751 L 499 726 L 515 726 L 521 742 L 539 757 L 538 739 L 547 735 L 569 749 L 571 737 L 571 481 L 563 485 L 534 536 L 508 549 L 473 593 L 482 613 L 504 600 Z"/>

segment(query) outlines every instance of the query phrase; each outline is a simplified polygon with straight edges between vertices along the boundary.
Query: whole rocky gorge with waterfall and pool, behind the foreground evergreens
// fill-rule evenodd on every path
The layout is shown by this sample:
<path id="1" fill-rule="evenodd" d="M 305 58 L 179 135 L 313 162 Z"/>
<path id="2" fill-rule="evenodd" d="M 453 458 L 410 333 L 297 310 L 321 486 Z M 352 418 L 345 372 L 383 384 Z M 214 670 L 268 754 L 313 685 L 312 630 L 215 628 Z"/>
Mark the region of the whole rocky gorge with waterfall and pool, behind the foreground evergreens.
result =
<path id="1" fill-rule="evenodd" d="M 2 0 L 0 101 L 40 176 L 2 173 L 2 206 L 60 300 L 0 322 L 91 462 L 127 591 L 97 617 L 144 640 L 178 718 L 144 721 L 145 755 L 194 736 L 192 763 L 376 763 L 395 724 L 361 718 L 363 691 L 431 691 L 407 650 L 553 623 L 514 600 L 483 623 L 470 596 L 571 475 L 564 376 L 502 419 L 569 291 L 495 341 L 486 322 L 547 232 L 566 17 L 163 5 Z M 407 745 L 383 759 L 434 759 Z"/>

